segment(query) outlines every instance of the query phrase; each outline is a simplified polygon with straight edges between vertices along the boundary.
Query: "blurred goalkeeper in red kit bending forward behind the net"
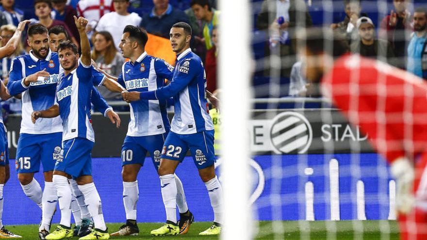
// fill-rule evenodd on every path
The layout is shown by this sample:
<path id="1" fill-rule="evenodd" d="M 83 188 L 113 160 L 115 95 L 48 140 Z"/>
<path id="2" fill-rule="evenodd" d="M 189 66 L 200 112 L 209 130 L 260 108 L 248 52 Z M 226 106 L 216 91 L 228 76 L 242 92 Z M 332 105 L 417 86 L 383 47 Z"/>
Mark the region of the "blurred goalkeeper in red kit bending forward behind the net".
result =
<path id="1" fill-rule="evenodd" d="M 427 239 L 427 83 L 386 63 L 347 53 L 329 30 L 298 37 L 303 73 L 391 165 L 401 239 Z"/>

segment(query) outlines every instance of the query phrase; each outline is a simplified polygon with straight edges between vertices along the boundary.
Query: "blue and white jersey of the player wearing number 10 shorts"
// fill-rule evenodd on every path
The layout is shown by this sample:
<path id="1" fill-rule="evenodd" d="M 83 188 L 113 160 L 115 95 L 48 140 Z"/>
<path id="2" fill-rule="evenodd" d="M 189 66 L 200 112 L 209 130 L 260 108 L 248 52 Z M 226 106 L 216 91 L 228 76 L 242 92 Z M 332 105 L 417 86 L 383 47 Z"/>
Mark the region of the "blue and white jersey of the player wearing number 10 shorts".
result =
<path id="1" fill-rule="evenodd" d="M 147 55 L 147 52 L 132 64 L 124 63 L 118 82 L 128 91 L 148 92 L 164 86 L 164 79 L 172 79 L 173 66 L 162 59 Z M 128 136 L 139 137 L 162 134 L 169 131 L 166 99 L 133 101 Z"/>

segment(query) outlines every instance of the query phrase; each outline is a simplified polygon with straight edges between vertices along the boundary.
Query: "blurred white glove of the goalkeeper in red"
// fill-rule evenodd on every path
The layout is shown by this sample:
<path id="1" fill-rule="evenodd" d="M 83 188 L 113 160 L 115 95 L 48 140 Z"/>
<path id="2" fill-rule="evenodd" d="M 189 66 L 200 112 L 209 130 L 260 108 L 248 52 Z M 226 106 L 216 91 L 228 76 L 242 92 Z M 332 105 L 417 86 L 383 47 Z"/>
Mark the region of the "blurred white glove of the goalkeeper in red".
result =
<path id="1" fill-rule="evenodd" d="M 391 172 L 397 185 L 395 209 L 398 213 L 407 214 L 415 202 L 413 194 L 414 168 L 407 158 L 398 158 L 392 163 Z"/>

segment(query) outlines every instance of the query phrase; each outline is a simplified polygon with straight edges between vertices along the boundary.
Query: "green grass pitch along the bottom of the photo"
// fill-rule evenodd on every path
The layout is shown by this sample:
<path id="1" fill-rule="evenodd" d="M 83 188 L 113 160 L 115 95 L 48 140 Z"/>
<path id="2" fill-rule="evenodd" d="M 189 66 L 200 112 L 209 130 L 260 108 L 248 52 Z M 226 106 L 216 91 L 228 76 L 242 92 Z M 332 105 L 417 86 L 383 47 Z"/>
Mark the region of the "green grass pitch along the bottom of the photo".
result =
<path id="1" fill-rule="evenodd" d="M 117 240 L 217 240 L 217 236 L 199 236 L 198 233 L 206 230 L 212 223 L 200 222 L 191 225 L 190 231 L 186 235 L 178 236 L 165 236 L 154 237 L 149 234 L 152 229 L 160 227 L 159 223 L 142 224 L 139 223 L 140 234 L 139 236 L 131 237 L 111 237 L 110 239 Z M 272 222 L 258 222 L 258 235 L 257 240 L 271 240 L 271 239 L 286 239 L 286 240 L 299 240 L 299 239 L 313 239 L 313 240 L 327 240 L 328 237 L 335 236 L 337 240 L 378 240 L 381 237 L 385 239 L 397 240 L 399 239 L 398 227 L 395 221 L 285 221 L 277 222 L 273 227 Z M 121 224 L 107 224 L 109 232 L 112 233 L 118 229 Z M 52 230 L 55 225 L 52 226 Z M 389 233 L 383 231 L 381 227 L 388 230 Z M 38 225 L 8 225 L 7 228 L 12 232 L 22 236 L 22 240 L 38 240 Z M 281 229 L 283 233 L 274 234 L 273 229 Z M 336 229 L 336 233 L 331 233 L 327 229 Z M 355 230 L 356 229 L 356 230 Z M 278 230 L 280 231 L 280 230 Z M 328 235 L 329 234 L 329 235 Z M 382 236 L 381 236 L 382 235 Z M 78 238 L 72 238 L 77 240 Z"/>

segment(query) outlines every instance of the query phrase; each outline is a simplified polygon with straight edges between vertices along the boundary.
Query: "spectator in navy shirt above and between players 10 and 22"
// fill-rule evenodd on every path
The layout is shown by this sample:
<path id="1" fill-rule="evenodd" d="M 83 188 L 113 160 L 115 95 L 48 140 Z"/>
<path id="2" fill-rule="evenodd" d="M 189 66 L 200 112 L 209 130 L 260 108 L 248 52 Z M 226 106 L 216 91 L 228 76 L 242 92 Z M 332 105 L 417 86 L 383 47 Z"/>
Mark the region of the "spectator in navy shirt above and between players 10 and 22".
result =
<path id="1" fill-rule="evenodd" d="M 172 7 L 169 0 L 153 0 L 151 13 L 142 16 L 141 27 L 147 32 L 169 38 L 169 32 L 177 22 L 187 22 L 188 17 L 180 9 Z"/>

